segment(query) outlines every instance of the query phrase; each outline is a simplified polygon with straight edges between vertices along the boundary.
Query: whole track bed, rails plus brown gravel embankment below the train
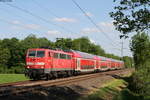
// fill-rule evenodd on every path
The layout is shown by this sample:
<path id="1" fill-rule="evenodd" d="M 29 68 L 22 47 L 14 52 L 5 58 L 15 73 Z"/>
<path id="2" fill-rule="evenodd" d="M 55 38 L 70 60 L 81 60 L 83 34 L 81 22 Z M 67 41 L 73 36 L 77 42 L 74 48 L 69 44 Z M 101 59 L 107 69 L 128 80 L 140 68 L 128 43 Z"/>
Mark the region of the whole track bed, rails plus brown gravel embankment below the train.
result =
<path id="1" fill-rule="evenodd" d="M 110 81 L 113 77 L 128 74 L 129 72 L 130 72 L 129 69 L 124 69 L 124 70 L 101 72 L 95 74 L 73 76 L 73 77 L 50 80 L 50 81 L 29 81 L 27 83 L 20 83 L 20 84 L 13 83 L 13 84 L 9 84 L 8 87 L 1 86 L 0 99 L 2 98 L 2 100 L 12 100 L 12 98 L 9 99 L 8 95 L 10 97 L 16 96 L 17 98 L 27 96 L 25 98 L 28 98 L 28 95 L 34 95 L 34 94 L 38 96 L 40 94 L 43 96 L 44 94 L 56 95 L 55 93 L 58 93 L 59 95 L 59 92 L 62 92 L 62 94 L 64 94 L 63 92 L 67 92 L 68 95 L 69 94 L 83 95 L 83 94 L 87 94 L 89 90 L 91 90 L 92 88 L 98 88 L 101 84 Z M 51 91 L 54 91 L 54 93 L 51 93 Z M 39 98 L 37 98 L 37 100 L 38 99 Z"/>

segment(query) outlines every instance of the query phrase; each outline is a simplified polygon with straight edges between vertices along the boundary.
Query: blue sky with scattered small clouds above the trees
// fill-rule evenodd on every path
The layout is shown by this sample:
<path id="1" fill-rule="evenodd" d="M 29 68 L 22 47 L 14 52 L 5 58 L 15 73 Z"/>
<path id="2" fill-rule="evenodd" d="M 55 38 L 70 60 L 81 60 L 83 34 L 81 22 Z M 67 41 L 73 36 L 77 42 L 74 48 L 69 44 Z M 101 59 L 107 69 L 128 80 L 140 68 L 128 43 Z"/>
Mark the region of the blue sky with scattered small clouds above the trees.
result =
<path id="1" fill-rule="evenodd" d="M 87 36 L 93 43 L 101 45 L 106 52 L 120 56 L 119 49 L 122 40 L 119 39 L 120 33 L 115 30 L 112 25 L 113 19 L 108 14 L 113 11 L 115 5 L 113 0 L 76 0 L 76 2 L 113 42 L 84 16 L 72 0 L 0 2 L 0 39 L 12 37 L 24 39 L 29 34 L 46 37 L 51 41 L 55 41 L 57 37 Z M 34 16 L 10 5 L 28 11 Z M 129 39 L 124 40 L 124 48 L 126 48 L 124 55 L 131 56 L 131 52 L 128 50 Z"/>

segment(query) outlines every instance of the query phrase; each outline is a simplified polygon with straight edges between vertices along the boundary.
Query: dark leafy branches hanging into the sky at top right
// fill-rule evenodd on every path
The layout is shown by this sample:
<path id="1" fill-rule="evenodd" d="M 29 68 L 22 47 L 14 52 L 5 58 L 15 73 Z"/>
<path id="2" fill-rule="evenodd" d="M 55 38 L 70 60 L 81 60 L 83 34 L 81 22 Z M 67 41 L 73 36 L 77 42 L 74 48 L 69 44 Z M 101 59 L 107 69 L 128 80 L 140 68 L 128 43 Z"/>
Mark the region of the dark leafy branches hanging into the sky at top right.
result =
<path id="1" fill-rule="evenodd" d="M 122 36 L 150 28 L 150 0 L 114 1 L 117 4 L 110 16 L 114 19 L 116 29 L 123 33 Z"/>

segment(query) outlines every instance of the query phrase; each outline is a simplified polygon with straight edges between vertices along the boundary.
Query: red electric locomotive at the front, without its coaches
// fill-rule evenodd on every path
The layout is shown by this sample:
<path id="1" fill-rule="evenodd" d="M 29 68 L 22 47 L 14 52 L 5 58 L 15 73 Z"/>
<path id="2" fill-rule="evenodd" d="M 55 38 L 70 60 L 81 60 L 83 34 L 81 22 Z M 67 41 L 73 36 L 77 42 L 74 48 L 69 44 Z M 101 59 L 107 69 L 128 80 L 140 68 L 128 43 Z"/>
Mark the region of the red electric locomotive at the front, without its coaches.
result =
<path id="1" fill-rule="evenodd" d="M 29 49 L 26 55 L 26 75 L 31 79 L 41 77 L 57 77 L 67 72 L 69 75 L 73 68 L 72 54 L 62 50 Z"/>

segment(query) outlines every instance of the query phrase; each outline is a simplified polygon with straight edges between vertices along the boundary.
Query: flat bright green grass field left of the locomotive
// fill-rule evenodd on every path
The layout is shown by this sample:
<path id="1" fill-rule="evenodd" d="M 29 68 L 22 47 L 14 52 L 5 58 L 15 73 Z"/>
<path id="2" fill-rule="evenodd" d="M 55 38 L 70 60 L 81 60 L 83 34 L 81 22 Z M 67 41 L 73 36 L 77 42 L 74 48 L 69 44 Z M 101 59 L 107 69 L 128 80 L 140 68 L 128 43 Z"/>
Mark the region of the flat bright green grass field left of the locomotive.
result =
<path id="1" fill-rule="evenodd" d="M 0 74 L 0 84 L 29 80 L 24 74 Z"/>

